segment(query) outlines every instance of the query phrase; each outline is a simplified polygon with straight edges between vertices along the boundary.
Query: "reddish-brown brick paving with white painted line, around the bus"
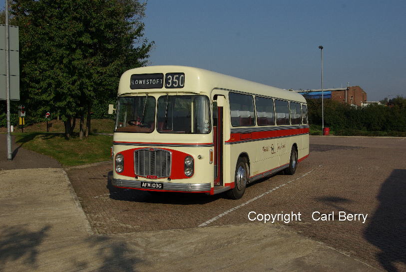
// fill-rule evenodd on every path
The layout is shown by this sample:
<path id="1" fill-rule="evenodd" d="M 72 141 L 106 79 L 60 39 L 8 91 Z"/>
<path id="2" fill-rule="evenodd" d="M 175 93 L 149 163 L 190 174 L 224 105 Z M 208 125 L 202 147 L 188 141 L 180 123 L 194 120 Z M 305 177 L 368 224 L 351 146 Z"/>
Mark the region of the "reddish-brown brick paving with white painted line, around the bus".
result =
<path id="1" fill-rule="evenodd" d="M 117 189 L 110 163 L 68 175 L 95 233 L 227 227 L 250 223 L 250 211 L 301 212 L 301 221 L 265 226 L 295 230 L 374 267 L 406 271 L 405 138 L 311 137 L 311 150 L 294 176 L 260 180 L 239 200 Z M 334 211 L 334 220 L 315 221 L 314 211 Z M 365 223 L 339 221 L 340 211 L 368 215 Z"/>

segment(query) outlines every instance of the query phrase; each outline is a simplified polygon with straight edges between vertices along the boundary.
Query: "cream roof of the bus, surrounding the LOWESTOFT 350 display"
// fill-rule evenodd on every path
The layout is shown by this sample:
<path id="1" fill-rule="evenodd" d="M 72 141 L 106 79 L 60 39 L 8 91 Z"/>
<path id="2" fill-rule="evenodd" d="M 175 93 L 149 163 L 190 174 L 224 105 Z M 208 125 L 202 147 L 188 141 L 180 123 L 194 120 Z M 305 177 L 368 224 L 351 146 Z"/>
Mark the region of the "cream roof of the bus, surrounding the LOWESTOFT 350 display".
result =
<path id="1" fill-rule="evenodd" d="M 131 89 L 130 80 L 133 74 L 152 74 L 152 73 L 184 73 L 184 87 L 182 88 L 142 88 Z M 175 66 L 175 65 L 157 65 L 145 66 L 125 71 L 120 78 L 118 86 L 118 95 L 137 94 L 137 93 L 185 93 L 194 92 L 210 95 L 212 89 L 220 88 L 226 90 L 235 90 L 252 94 L 283 98 L 287 100 L 306 103 L 306 99 L 299 93 L 281 89 L 238 77 L 221 74 L 196 67 Z"/>

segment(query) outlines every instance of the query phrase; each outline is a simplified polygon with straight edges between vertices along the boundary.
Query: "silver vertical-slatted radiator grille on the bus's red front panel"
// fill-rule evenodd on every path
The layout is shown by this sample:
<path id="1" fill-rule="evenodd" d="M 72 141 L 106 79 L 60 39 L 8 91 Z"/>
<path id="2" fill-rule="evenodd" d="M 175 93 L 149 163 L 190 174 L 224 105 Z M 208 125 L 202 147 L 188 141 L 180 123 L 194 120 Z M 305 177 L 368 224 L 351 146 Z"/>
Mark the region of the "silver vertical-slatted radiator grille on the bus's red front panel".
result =
<path id="1" fill-rule="evenodd" d="M 136 175 L 168 177 L 171 173 L 171 153 L 159 148 L 145 148 L 134 151 Z"/>

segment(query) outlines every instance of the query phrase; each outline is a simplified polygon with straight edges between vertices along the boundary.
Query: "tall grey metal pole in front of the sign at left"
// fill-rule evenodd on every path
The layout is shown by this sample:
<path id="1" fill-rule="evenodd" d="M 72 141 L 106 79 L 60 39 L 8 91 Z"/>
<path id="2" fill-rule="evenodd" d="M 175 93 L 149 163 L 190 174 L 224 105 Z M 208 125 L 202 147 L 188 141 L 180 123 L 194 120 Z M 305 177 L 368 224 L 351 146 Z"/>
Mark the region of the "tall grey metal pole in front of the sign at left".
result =
<path id="1" fill-rule="evenodd" d="M 8 26 L 8 0 L 5 0 L 5 73 L 7 97 L 7 159 L 12 159 L 11 151 L 11 126 L 10 126 L 10 37 Z"/>

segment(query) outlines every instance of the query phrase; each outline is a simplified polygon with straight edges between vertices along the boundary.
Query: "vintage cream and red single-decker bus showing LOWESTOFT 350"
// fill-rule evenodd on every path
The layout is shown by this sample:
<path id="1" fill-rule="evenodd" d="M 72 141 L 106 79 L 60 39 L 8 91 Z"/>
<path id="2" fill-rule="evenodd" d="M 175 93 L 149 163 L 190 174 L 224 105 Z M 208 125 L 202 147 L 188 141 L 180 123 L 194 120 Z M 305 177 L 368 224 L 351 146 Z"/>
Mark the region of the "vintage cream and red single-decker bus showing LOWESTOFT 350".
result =
<path id="1" fill-rule="evenodd" d="M 119 188 L 238 199 L 248 183 L 294 174 L 309 155 L 301 94 L 205 69 L 127 70 L 115 111 L 112 185 Z"/>

